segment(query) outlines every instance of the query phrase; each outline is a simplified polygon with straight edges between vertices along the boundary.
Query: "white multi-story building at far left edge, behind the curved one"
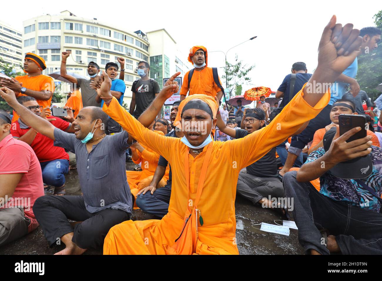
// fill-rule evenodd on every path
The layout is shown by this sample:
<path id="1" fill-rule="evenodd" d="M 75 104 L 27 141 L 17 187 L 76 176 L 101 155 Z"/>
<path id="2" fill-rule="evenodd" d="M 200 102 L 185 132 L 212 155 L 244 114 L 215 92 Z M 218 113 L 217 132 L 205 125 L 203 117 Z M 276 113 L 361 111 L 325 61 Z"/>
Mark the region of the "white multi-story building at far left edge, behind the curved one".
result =
<path id="1" fill-rule="evenodd" d="M 23 71 L 21 32 L 0 21 L 0 57 L 13 66 L 14 71 Z"/>

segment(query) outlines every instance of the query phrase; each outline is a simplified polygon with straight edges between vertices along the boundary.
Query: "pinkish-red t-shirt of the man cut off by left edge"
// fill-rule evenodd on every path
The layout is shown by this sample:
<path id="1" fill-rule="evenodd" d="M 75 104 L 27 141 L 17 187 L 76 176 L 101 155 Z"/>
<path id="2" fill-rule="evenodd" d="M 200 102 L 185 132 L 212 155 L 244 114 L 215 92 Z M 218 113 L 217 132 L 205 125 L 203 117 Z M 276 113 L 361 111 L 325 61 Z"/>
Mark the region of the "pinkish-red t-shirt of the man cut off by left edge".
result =
<path id="1" fill-rule="evenodd" d="M 0 141 L 0 174 L 18 173 L 23 173 L 23 176 L 7 206 L 24 207 L 25 216 L 31 219 L 28 226 L 28 232 L 31 232 L 39 226 L 33 214 L 34 201 L 44 196 L 41 166 L 29 145 L 8 135 Z"/>

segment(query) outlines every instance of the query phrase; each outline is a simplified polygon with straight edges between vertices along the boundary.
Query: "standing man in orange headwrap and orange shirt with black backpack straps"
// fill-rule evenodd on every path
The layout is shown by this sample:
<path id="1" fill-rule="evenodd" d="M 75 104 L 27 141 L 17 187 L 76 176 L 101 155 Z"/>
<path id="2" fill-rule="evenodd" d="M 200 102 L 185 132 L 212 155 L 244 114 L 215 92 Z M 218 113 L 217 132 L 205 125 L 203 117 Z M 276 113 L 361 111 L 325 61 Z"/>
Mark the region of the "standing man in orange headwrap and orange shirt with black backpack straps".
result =
<path id="1" fill-rule="evenodd" d="M 188 88 L 188 73 L 187 71 L 183 77 L 183 84 L 180 89 L 180 100 L 186 98 L 188 95 L 192 94 L 204 94 L 207 96 L 215 97 L 217 99 L 222 99 L 223 91 L 214 81 L 214 76 L 212 74 L 212 67 L 207 67 L 207 49 L 204 46 L 194 46 L 190 49 L 188 55 L 188 61 L 194 65 L 194 73 L 191 76 L 190 86 Z M 220 78 L 219 78 L 220 82 Z M 220 82 L 220 85 L 222 82 Z"/>

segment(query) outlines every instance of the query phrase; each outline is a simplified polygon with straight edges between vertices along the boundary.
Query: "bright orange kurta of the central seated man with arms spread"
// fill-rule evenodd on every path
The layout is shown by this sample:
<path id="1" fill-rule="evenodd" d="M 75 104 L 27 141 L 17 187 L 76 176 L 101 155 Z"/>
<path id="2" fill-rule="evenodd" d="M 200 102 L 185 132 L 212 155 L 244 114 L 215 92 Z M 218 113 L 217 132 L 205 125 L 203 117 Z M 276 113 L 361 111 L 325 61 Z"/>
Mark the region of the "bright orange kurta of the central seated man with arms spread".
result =
<path id="1" fill-rule="evenodd" d="M 238 254 L 236 246 L 236 183 L 242 168 L 264 156 L 271 148 L 313 119 L 329 102 L 326 93 L 315 107 L 309 106 L 300 91 L 266 127 L 230 141 L 212 142 L 201 198 L 197 204 L 204 224 L 197 224 L 197 239 L 186 240 L 196 254 Z M 140 143 L 167 159 L 172 167 L 172 191 L 168 213 L 161 220 L 125 221 L 110 229 L 104 241 L 104 254 L 166 254 L 175 244 L 185 221 L 188 206 L 193 206 L 207 146 L 195 158 L 180 138 L 160 136 L 142 126 L 117 99 L 103 110 L 121 124 Z M 188 154 L 189 190 L 185 176 Z M 186 157 L 187 158 L 187 157 Z M 186 165 L 187 166 L 187 165 Z M 224 177 L 221 177 L 224 175 Z"/>

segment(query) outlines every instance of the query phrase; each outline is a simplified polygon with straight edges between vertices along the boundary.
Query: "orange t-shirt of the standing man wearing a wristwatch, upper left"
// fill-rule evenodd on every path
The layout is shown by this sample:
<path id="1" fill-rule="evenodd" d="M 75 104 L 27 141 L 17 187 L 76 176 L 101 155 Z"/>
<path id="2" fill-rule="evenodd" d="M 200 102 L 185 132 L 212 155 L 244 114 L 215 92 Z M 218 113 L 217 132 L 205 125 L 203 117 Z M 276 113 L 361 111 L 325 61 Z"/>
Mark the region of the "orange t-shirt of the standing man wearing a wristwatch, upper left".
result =
<path id="1" fill-rule="evenodd" d="M 47 90 L 52 93 L 54 92 L 53 78 L 48 75 L 41 74 L 39 76 L 32 76 L 32 77 L 28 75 L 24 75 L 24 76 L 16 76 L 15 79 L 19 81 L 20 83 L 23 83 L 24 88 L 30 89 L 32 91 Z M 19 96 L 28 96 L 28 95 L 20 93 L 18 94 L 18 97 Z M 42 101 L 40 99 L 37 99 L 37 103 L 43 108 L 50 106 L 50 101 L 52 101 L 52 97 L 50 97 L 50 99 L 48 99 L 47 101 Z M 19 119 L 19 115 L 17 115 L 15 110 L 13 110 L 12 122 L 15 122 L 18 119 Z"/>

